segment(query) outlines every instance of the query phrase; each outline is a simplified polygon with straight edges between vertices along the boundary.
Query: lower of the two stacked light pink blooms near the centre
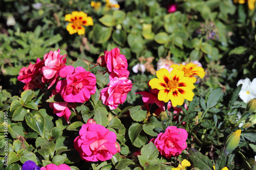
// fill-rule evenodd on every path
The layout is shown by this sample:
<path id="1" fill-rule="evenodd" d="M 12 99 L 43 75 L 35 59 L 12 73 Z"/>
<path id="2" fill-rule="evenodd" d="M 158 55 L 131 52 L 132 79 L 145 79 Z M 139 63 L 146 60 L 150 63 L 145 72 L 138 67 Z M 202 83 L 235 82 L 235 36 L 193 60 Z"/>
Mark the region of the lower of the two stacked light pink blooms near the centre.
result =
<path id="1" fill-rule="evenodd" d="M 100 91 L 100 100 L 102 100 L 104 105 L 114 110 L 118 107 L 118 104 L 124 103 L 127 93 L 131 91 L 132 87 L 133 84 L 131 80 L 125 77 L 115 77 L 109 82 L 108 87 Z"/>

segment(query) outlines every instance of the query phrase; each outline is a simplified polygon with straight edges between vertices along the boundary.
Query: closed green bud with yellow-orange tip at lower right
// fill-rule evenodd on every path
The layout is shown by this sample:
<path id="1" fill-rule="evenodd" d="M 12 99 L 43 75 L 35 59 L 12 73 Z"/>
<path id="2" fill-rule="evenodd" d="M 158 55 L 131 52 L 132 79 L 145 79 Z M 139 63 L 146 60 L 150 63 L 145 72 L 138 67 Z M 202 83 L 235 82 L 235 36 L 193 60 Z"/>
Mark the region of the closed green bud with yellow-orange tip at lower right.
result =
<path id="1" fill-rule="evenodd" d="M 227 137 L 225 142 L 225 152 L 228 154 L 238 147 L 240 142 L 241 129 L 236 130 Z"/>

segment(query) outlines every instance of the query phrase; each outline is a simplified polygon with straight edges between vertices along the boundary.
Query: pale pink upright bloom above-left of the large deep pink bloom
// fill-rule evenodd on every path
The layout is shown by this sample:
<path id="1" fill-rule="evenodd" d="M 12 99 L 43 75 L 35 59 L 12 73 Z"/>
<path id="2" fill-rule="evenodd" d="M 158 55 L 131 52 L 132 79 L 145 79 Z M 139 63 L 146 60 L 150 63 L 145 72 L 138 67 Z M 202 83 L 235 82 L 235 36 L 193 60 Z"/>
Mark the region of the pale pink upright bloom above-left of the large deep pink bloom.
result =
<path id="1" fill-rule="evenodd" d="M 67 55 L 61 56 L 59 53 L 60 50 L 54 52 L 50 51 L 44 56 L 45 66 L 42 67 L 42 74 L 44 75 L 44 77 L 42 77 L 42 82 L 50 83 L 48 89 L 52 87 L 56 81 L 58 81 L 59 71 L 65 67 L 67 60 L 65 57 Z"/>

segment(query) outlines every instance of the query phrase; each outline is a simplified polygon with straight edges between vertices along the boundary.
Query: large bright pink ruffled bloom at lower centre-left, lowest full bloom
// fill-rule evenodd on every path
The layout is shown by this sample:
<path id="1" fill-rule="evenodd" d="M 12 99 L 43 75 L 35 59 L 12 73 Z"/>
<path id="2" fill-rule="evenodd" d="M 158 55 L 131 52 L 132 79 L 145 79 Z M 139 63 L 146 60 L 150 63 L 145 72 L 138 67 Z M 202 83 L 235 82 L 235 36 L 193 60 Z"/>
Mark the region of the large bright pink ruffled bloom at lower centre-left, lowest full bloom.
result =
<path id="1" fill-rule="evenodd" d="M 82 125 L 79 136 L 74 140 L 74 147 L 86 162 L 109 160 L 119 151 L 116 148 L 116 134 L 92 123 Z"/>

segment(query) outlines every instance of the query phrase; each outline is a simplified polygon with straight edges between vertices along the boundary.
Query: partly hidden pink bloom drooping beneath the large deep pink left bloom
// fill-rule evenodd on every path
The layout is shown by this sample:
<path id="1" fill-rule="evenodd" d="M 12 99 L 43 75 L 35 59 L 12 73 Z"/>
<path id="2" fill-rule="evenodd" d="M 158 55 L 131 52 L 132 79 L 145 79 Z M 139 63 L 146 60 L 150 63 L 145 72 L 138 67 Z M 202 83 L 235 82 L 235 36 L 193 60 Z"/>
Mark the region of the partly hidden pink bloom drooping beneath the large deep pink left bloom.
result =
<path id="1" fill-rule="evenodd" d="M 57 94 L 56 90 L 52 90 L 52 95 L 50 96 L 50 98 Z M 59 117 L 64 117 L 68 124 L 69 124 L 69 117 L 71 115 L 71 108 L 76 108 L 76 104 L 75 103 L 49 103 L 50 107 L 53 109 L 53 113 L 56 114 Z"/>

